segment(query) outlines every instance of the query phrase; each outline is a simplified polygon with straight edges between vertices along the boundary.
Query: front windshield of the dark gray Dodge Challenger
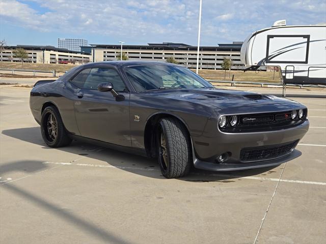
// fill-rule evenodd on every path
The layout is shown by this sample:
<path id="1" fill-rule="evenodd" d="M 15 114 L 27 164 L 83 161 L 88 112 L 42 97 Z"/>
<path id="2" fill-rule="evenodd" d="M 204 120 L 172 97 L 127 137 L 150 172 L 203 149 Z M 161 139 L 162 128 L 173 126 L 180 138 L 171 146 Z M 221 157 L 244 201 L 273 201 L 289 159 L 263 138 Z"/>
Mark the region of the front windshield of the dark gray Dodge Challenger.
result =
<path id="1" fill-rule="evenodd" d="M 214 88 L 199 75 L 181 66 L 129 66 L 125 72 L 137 92 L 156 89 Z"/>

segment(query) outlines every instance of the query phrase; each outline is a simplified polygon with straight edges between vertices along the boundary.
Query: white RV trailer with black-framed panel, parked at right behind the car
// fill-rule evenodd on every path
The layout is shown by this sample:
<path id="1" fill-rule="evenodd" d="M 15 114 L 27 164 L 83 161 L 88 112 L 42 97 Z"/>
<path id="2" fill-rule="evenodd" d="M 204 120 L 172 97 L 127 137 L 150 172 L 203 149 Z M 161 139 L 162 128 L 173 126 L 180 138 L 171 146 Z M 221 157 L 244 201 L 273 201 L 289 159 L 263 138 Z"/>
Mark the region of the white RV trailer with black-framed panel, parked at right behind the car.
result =
<path id="1" fill-rule="evenodd" d="M 246 66 L 280 66 L 285 84 L 326 85 L 326 25 L 285 25 L 254 32 L 244 40 Z"/>

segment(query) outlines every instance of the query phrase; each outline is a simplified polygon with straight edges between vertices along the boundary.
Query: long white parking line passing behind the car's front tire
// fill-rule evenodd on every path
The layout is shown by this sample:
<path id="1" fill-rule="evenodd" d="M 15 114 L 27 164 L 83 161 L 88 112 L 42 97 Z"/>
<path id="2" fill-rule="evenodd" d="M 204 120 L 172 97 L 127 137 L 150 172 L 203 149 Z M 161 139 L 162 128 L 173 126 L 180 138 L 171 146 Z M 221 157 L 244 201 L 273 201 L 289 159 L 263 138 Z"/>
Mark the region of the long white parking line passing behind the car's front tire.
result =
<path id="1" fill-rule="evenodd" d="M 134 170 L 145 170 L 145 171 L 158 171 L 153 168 L 138 168 L 138 167 L 128 167 L 128 166 L 113 166 L 113 165 L 102 165 L 102 164 L 72 164 L 72 163 L 62 163 L 62 162 L 44 162 L 43 164 L 58 164 L 58 165 L 72 165 L 72 166 L 86 166 L 86 167 L 98 167 L 98 168 L 117 168 L 117 169 L 134 169 Z M 241 176 L 233 174 L 202 174 L 194 173 L 196 175 L 205 175 L 205 176 L 219 176 L 219 177 L 232 177 L 232 178 L 243 178 L 243 179 L 257 179 L 257 180 L 267 180 L 267 181 L 279 181 L 277 178 L 266 178 L 266 177 L 256 177 L 256 176 Z M 306 180 L 292 180 L 292 179 L 281 179 L 282 182 L 291 182 L 298 184 L 310 184 L 310 185 L 321 185 L 326 186 L 326 182 L 318 181 L 306 181 Z"/>

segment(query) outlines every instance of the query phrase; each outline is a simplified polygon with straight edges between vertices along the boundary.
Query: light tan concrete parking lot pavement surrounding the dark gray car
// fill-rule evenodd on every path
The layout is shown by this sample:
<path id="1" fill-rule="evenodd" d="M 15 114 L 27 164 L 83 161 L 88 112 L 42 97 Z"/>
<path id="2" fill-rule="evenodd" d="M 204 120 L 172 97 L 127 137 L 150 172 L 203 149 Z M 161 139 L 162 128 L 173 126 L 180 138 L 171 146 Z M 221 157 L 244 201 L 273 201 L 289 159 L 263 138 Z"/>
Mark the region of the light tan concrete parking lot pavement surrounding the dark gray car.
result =
<path id="1" fill-rule="evenodd" d="M 0 86 L 0 243 L 325 242 L 326 99 L 293 98 L 309 108 L 301 157 L 166 179 L 155 160 L 45 146 L 29 90 Z"/>

